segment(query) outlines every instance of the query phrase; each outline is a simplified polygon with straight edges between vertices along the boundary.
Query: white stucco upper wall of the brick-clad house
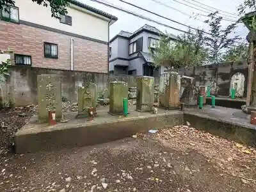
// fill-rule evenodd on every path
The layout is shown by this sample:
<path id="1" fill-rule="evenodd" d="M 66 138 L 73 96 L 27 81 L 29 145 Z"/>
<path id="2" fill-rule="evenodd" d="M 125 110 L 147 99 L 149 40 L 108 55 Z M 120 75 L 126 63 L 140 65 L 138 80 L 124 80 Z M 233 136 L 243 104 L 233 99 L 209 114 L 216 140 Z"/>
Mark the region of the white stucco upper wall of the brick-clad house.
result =
<path id="1" fill-rule="evenodd" d="M 72 17 L 72 26 L 62 24 L 60 20 L 52 18 L 50 7 L 46 8 L 33 3 L 31 0 L 16 0 L 15 6 L 19 7 L 20 20 L 95 38 L 101 41 L 108 41 L 108 18 L 96 15 L 79 6 L 71 5 L 67 8 L 67 15 Z"/>

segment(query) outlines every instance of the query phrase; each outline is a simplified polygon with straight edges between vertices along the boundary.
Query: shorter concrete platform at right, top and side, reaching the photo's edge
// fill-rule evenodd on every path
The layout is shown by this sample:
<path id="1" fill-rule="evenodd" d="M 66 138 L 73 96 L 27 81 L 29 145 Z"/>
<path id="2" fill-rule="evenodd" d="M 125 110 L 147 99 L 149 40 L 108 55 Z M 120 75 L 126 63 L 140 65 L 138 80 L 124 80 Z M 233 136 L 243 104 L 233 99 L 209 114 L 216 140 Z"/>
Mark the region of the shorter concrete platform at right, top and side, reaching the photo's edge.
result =
<path id="1" fill-rule="evenodd" d="M 250 124 L 250 115 L 234 108 L 204 106 L 185 108 L 184 121 L 201 129 L 241 144 L 256 145 L 256 126 Z"/>

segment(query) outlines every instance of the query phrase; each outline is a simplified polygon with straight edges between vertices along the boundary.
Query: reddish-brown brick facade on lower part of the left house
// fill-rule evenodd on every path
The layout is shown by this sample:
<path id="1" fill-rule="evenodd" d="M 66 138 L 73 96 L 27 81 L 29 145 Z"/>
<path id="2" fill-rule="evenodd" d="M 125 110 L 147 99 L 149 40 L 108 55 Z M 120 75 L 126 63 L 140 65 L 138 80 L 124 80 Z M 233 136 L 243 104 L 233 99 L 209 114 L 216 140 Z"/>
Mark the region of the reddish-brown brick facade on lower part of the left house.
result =
<path id="1" fill-rule="evenodd" d="M 0 50 L 31 55 L 32 66 L 70 70 L 70 39 L 74 39 L 74 70 L 108 73 L 108 45 L 23 24 L 0 20 Z M 44 41 L 58 44 L 58 59 L 44 57 Z"/>

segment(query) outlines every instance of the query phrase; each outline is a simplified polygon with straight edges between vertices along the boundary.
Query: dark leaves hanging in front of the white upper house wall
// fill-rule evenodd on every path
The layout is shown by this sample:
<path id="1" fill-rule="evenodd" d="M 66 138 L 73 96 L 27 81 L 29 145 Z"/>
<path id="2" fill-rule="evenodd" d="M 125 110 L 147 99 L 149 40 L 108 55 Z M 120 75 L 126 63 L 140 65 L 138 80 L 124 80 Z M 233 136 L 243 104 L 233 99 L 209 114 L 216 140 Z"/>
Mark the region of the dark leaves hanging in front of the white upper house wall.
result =
<path id="1" fill-rule="evenodd" d="M 37 4 L 42 4 L 45 7 L 50 6 L 52 17 L 60 18 L 60 15 L 67 14 L 68 0 L 31 0 Z M 0 10 L 5 9 L 8 11 L 8 6 L 15 6 L 14 0 L 0 0 Z"/>

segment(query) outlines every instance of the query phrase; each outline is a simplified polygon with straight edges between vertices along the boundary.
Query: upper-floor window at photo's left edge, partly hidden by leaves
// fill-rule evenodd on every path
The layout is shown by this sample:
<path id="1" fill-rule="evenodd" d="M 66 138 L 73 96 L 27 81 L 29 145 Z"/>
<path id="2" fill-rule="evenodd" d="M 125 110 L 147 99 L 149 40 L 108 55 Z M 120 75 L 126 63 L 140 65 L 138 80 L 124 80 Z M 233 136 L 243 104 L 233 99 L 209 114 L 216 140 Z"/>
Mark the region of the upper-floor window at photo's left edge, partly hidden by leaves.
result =
<path id="1" fill-rule="evenodd" d="M 19 8 L 15 6 L 10 6 L 9 8 L 4 7 L 1 10 L 0 18 L 2 20 L 19 23 Z"/>

